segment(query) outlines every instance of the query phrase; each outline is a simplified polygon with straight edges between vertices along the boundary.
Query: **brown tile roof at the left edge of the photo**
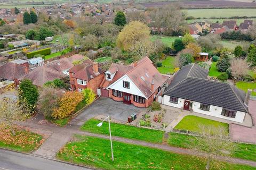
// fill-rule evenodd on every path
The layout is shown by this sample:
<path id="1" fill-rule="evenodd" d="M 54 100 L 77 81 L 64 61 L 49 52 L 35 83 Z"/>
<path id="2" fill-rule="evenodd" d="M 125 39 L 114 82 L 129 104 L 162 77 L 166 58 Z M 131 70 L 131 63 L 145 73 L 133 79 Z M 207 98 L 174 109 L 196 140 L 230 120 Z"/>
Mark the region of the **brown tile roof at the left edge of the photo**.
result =
<path id="1" fill-rule="evenodd" d="M 30 71 L 30 69 L 28 69 L 28 71 Z M 0 78 L 13 81 L 25 74 L 25 67 L 17 63 L 9 62 L 0 66 Z"/>

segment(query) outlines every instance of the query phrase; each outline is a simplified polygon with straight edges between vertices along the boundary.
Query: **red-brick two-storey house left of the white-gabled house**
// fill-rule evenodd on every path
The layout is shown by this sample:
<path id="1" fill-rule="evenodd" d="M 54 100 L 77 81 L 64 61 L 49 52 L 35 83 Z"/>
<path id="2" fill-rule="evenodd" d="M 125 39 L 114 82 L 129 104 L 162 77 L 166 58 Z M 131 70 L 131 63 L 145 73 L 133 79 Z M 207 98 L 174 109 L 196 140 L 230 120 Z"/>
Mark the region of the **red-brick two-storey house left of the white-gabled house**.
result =
<path id="1" fill-rule="evenodd" d="M 105 77 L 104 71 L 98 63 L 92 62 L 90 59 L 73 66 L 68 72 L 71 90 L 79 92 L 85 88 L 90 88 L 97 94 L 97 89 Z"/>

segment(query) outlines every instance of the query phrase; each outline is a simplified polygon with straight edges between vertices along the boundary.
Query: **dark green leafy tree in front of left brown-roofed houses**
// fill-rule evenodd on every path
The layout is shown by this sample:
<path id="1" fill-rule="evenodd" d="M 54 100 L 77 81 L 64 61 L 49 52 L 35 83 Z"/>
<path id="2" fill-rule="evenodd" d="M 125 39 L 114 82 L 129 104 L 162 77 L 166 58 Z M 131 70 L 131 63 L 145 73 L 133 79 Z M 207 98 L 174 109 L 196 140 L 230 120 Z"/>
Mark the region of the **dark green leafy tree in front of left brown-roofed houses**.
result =
<path id="1" fill-rule="evenodd" d="M 38 90 L 31 80 L 22 80 L 19 87 L 19 100 L 23 106 L 28 107 L 30 113 L 35 111 L 38 99 Z"/>

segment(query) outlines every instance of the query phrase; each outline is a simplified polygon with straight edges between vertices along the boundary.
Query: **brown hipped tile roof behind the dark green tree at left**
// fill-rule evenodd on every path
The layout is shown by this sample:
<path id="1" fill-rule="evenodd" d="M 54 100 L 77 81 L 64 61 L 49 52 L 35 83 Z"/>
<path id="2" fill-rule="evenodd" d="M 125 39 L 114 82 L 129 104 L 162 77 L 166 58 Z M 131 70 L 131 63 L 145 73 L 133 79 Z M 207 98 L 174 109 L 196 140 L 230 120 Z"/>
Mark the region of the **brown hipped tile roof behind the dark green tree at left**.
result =
<path id="1" fill-rule="evenodd" d="M 66 74 L 60 73 L 58 71 L 49 69 L 44 66 L 38 66 L 34 70 L 30 71 L 29 73 L 23 75 L 18 80 L 29 79 L 35 84 L 36 86 L 43 87 L 44 83 L 47 81 L 52 81 L 55 79 L 62 79 L 67 77 Z"/>

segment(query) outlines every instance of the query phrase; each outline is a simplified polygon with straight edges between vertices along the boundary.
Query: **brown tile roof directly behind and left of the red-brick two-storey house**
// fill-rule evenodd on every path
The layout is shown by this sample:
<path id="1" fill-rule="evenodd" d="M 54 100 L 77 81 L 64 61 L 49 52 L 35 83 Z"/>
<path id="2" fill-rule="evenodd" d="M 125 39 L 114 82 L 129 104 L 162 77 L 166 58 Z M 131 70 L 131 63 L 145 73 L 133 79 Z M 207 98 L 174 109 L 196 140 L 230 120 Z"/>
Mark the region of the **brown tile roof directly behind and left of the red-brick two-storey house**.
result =
<path id="1" fill-rule="evenodd" d="M 52 70 L 62 72 L 62 71 L 66 71 L 66 70 L 70 69 L 71 67 L 73 67 L 74 61 L 82 60 L 83 58 L 84 58 L 84 56 L 82 56 L 80 54 L 75 54 L 71 57 L 61 58 L 60 60 L 53 61 L 49 64 L 46 64 L 45 66 Z"/>

